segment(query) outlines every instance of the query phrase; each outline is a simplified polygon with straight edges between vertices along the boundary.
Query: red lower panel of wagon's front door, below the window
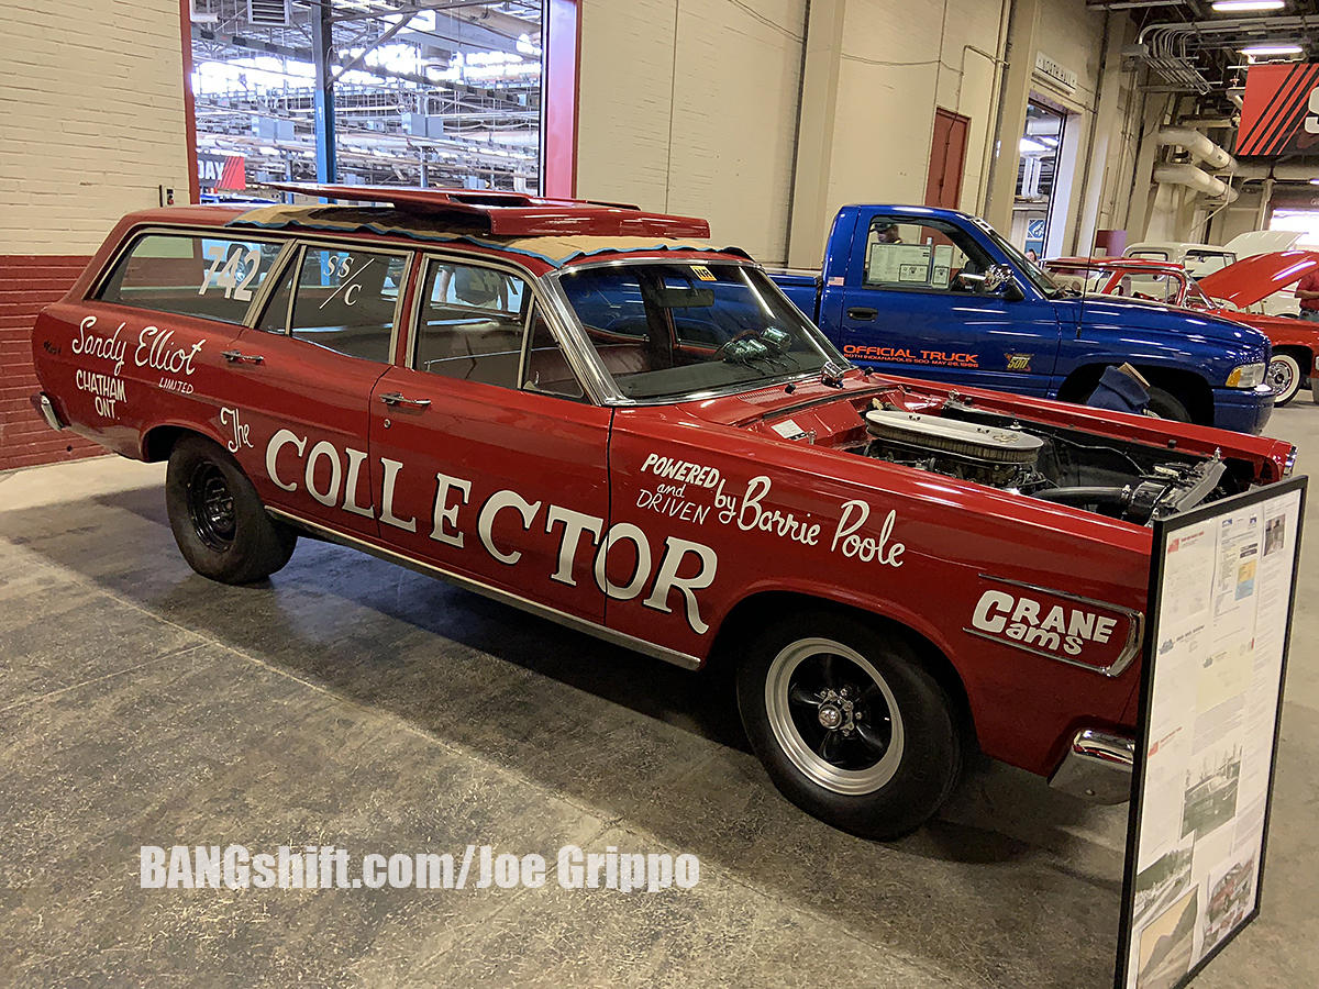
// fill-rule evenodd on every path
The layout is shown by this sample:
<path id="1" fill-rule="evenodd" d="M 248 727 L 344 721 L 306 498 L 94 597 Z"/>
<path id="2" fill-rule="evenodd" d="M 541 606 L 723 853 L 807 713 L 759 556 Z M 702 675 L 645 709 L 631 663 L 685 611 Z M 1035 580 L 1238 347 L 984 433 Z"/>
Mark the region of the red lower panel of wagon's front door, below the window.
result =
<path id="1" fill-rule="evenodd" d="M 604 624 L 609 410 L 390 368 L 371 402 L 380 537 L 483 584 Z"/>

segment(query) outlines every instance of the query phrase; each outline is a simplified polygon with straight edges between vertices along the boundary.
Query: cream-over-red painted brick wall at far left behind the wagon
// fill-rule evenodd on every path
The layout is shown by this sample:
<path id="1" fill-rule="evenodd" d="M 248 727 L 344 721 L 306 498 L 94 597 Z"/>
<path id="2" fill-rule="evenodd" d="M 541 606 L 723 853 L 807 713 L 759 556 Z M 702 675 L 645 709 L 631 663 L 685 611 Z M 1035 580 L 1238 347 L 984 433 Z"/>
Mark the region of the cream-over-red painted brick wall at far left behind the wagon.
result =
<path id="1" fill-rule="evenodd" d="M 181 7 L 3 3 L 0 469 L 100 451 L 28 402 L 32 324 L 120 216 L 158 206 L 160 186 L 187 202 Z"/>

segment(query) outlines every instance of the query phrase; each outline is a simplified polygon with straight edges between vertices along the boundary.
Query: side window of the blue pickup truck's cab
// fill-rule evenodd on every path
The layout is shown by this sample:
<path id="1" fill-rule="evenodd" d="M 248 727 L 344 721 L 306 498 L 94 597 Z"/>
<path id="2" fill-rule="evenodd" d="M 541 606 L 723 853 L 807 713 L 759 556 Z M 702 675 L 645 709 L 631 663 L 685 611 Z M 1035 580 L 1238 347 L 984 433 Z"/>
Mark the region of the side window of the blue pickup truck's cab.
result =
<path id="1" fill-rule="evenodd" d="M 876 215 L 865 237 L 863 284 L 897 291 L 975 291 L 993 264 L 960 227 Z"/>

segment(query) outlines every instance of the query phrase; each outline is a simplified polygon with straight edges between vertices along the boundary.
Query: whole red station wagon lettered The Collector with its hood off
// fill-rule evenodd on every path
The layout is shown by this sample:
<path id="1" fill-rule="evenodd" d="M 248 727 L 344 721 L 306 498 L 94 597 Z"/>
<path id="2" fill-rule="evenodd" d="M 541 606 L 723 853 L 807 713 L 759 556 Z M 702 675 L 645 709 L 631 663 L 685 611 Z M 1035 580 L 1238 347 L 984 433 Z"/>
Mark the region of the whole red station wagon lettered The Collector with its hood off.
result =
<path id="1" fill-rule="evenodd" d="M 704 222 L 516 194 L 124 218 L 37 407 L 140 460 L 199 574 L 311 533 L 653 657 L 737 663 L 778 789 L 860 835 L 972 746 L 1129 793 L 1149 522 L 1291 469 L 1206 427 L 867 375 Z"/>

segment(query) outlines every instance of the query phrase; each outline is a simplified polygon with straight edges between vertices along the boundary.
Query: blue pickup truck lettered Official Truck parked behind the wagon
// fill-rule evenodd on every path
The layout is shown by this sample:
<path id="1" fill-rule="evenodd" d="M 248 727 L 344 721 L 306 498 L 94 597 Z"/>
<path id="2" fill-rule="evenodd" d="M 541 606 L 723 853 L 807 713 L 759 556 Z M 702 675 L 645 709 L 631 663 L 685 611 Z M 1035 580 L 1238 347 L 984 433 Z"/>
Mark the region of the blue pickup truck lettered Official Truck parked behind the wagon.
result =
<path id="1" fill-rule="evenodd" d="M 772 272 L 853 363 L 1084 402 L 1129 363 L 1163 418 L 1260 433 L 1273 413 L 1269 340 L 1225 319 L 1079 295 L 983 220 L 925 206 L 844 206 L 824 269 Z"/>

